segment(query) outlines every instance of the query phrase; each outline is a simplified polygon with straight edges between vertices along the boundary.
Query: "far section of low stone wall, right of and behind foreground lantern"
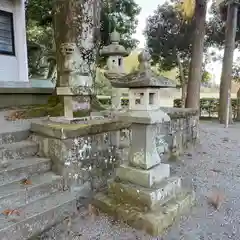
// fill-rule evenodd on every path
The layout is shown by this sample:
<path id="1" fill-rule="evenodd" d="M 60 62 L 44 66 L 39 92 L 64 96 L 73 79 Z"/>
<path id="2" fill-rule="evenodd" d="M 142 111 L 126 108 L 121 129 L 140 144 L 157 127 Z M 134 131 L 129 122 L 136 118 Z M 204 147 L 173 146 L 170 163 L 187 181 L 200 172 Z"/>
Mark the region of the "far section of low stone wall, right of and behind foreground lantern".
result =
<path id="1" fill-rule="evenodd" d="M 162 107 L 161 109 L 170 116 L 171 123 L 157 127 L 158 153 L 165 160 L 175 160 L 185 149 L 194 146 L 198 139 L 198 111 L 187 108 Z M 131 138 L 129 130 L 126 131 Z M 129 138 L 125 138 L 125 148 L 129 146 Z M 125 149 L 126 152 L 128 152 L 127 149 Z M 126 154 L 125 158 L 127 158 Z"/>

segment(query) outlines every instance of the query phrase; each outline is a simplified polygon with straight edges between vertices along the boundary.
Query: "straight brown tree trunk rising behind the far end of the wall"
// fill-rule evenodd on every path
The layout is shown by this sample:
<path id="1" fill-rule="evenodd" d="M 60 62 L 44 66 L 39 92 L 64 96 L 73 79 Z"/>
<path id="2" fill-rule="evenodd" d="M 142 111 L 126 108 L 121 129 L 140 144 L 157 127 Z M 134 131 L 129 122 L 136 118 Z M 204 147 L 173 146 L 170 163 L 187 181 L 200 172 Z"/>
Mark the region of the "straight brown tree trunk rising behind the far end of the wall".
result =
<path id="1" fill-rule="evenodd" d="M 195 31 L 189 66 L 186 107 L 199 109 L 207 1 L 196 0 Z"/>

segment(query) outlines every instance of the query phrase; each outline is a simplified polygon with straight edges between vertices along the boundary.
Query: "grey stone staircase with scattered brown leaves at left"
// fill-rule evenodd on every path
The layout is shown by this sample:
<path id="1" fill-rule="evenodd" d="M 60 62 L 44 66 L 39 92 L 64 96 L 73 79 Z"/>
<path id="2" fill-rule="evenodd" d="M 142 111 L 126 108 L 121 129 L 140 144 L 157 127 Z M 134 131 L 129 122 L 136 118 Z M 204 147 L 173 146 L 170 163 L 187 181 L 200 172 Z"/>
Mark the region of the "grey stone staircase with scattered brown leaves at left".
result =
<path id="1" fill-rule="evenodd" d="M 63 191 L 63 177 L 51 160 L 37 156 L 29 132 L 0 133 L 0 239 L 39 235 L 76 211 L 75 197 Z M 14 210 L 14 211 L 12 211 Z"/>

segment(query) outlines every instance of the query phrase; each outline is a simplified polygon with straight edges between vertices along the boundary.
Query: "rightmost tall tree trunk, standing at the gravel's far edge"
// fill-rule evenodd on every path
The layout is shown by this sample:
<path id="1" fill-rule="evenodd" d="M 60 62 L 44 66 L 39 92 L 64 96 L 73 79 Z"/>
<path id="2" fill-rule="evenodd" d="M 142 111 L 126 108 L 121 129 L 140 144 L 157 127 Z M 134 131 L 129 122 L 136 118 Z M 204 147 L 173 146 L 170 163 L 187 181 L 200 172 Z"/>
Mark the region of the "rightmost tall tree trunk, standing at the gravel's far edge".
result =
<path id="1" fill-rule="evenodd" d="M 237 29 L 237 12 L 238 12 L 238 6 L 236 4 L 228 5 L 226 31 L 225 31 L 225 48 L 224 48 L 222 75 L 221 75 L 221 83 L 220 83 L 220 94 L 219 94 L 220 123 L 226 123 L 228 91 L 231 90 L 231 82 L 232 82 L 232 64 L 233 64 L 233 52 L 235 49 L 235 37 L 236 37 L 236 29 Z M 229 114 L 229 118 L 230 118 L 229 123 L 231 123 L 232 114 Z"/>

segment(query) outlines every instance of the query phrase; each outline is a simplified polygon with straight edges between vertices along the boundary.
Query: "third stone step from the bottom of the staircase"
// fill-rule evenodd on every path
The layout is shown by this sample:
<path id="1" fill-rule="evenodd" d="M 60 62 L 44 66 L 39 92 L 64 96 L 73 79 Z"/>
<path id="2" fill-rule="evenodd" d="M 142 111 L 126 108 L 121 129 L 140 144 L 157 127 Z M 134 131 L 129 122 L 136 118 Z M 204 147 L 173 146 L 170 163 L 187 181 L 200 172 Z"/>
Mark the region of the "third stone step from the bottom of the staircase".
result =
<path id="1" fill-rule="evenodd" d="M 51 160 L 47 158 L 25 158 L 8 164 L 6 168 L 0 168 L 0 186 L 51 170 Z"/>

